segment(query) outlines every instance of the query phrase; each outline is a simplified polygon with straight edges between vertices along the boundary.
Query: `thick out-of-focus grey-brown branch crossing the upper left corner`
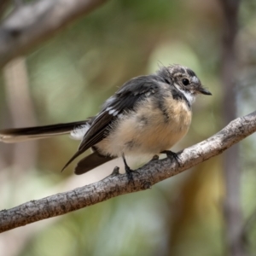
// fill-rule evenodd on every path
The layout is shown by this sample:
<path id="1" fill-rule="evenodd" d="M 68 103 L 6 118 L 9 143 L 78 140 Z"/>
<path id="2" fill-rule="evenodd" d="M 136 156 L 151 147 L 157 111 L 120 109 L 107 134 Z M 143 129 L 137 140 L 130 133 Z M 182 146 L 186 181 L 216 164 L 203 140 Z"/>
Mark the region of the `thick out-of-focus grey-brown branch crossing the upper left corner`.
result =
<path id="1" fill-rule="evenodd" d="M 0 67 L 107 0 L 40 0 L 16 9 L 0 26 Z"/>

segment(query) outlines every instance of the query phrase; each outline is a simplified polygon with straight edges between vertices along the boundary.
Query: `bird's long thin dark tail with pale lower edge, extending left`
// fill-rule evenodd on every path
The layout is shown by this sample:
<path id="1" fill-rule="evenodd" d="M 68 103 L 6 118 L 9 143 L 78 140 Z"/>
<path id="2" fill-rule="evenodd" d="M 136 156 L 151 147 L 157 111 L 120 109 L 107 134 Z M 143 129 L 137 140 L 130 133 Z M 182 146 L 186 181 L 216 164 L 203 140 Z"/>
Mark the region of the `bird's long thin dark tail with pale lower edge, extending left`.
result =
<path id="1" fill-rule="evenodd" d="M 80 125 L 85 125 L 88 120 L 67 124 L 45 125 L 37 127 L 26 127 L 17 129 L 0 130 L 0 142 L 20 143 L 27 140 L 34 140 L 56 135 L 67 134 Z"/>

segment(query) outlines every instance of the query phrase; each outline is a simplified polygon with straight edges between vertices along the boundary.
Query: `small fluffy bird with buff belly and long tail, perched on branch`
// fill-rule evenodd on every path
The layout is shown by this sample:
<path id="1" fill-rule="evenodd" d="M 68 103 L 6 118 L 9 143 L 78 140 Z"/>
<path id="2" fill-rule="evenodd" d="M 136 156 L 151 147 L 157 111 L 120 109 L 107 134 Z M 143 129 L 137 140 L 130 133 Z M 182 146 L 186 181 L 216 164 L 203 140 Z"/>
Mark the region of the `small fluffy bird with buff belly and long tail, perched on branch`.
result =
<path id="1" fill-rule="evenodd" d="M 156 73 L 128 80 L 93 117 L 72 123 L 0 130 L 0 141 L 18 143 L 70 134 L 81 143 L 62 171 L 91 148 L 92 153 L 77 163 L 75 174 L 122 157 L 125 172 L 132 179 L 133 170 L 126 156 L 166 153 L 177 160 L 177 154 L 170 149 L 189 131 L 192 103 L 200 94 L 212 95 L 189 67 L 161 66 Z"/>

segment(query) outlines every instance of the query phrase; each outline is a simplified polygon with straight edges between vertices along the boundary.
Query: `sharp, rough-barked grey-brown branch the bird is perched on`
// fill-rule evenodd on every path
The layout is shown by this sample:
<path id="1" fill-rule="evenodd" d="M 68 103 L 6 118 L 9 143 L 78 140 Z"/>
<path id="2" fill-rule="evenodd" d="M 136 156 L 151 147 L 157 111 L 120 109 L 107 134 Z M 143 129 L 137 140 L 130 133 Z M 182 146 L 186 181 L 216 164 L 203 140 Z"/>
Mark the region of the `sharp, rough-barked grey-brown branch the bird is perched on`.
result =
<path id="1" fill-rule="evenodd" d="M 243 138 L 256 131 L 256 111 L 230 122 L 223 130 L 207 140 L 185 148 L 176 161 L 168 158 L 151 160 L 133 174 L 134 183 L 128 183 L 125 174 L 110 175 L 102 181 L 71 191 L 29 201 L 18 207 L 0 212 L 0 232 L 89 207 L 118 195 L 150 188 L 154 183 L 183 172 L 209 158 L 221 154 Z"/>

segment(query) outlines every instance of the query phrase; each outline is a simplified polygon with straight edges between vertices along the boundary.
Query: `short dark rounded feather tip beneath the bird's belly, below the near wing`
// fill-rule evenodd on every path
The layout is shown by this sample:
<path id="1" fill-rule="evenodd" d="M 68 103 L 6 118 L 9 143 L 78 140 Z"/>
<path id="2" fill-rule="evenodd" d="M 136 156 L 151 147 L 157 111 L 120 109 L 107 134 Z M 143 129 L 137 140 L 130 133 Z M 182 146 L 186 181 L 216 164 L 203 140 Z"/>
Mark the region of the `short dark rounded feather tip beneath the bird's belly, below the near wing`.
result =
<path id="1" fill-rule="evenodd" d="M 94 152 L 85 156 L 82 160 L 79 160 L 78 165 L 75 167 L 74 173 L 80 175 L 84 172 L 89 172 L 97 166 L 101 166 L 113 159 L 115 159 L 115 157 L 103 156 L 98 154 L 98 152 Z"/>

